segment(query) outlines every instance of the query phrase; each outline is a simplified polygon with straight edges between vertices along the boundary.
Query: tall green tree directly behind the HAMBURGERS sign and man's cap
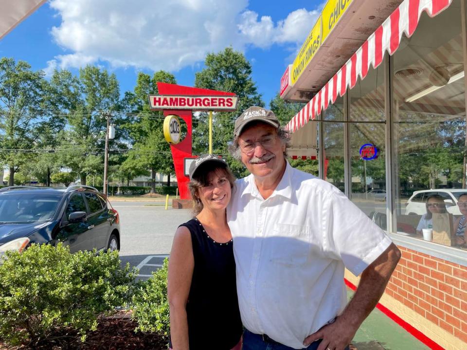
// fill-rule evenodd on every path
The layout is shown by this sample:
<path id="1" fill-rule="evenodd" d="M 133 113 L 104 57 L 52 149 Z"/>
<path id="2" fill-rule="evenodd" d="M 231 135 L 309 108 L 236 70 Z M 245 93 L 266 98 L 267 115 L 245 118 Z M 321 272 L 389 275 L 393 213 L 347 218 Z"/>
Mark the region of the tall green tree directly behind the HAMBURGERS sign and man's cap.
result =
<path id="1" fill-rule="evenodd" d="M 208 53 L 204 61 L 205 68 L 196 73 L 195 86 L 234 92 L 238 96 L 235 112 L 219 112 L 213 116 L 213 153 L 226 156 L 228 144 L 234 138 L 234 121 L 243 111 L 252 105 L 264 106 L 261 94 L 251 77 L 251 64 L 243 53 L 225 48 L 220 53 Z M 207 113 L 195 117 L 193 145 L 196 153 L 207 153 L 209 149 L 209 125 Z M 227 162 L 234 175 L 247 174 L 243 165 L 227 156 Z"/>

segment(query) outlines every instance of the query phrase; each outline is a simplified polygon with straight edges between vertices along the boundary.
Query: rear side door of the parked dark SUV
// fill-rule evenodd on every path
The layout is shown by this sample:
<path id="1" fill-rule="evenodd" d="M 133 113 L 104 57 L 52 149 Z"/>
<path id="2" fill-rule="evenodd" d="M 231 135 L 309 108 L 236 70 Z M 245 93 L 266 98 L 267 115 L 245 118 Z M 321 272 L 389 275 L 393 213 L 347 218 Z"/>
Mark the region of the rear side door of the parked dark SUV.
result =
<path id="1" fill-rule="evenodd" d="M 96 193 L 84 192 L 84 197 L 88 203 L 90 216 L 88 222 L 92 225 L 94 231 L 94 242 L 92 248 L 103 249 L 107 248 L 108 238 L 110 237 L 110 222 L 108 221 L 108 211 L 104 210 L 102 202 L 97 197 Z"/>

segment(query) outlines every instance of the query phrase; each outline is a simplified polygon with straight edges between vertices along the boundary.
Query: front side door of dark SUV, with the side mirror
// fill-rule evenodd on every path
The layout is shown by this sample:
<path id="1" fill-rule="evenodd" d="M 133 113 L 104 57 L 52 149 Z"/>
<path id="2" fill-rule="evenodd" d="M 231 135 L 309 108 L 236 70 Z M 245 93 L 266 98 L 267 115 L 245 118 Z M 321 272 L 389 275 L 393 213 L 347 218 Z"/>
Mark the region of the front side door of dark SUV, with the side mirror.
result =
<path id="1" fill-rule="evenodd" d="M 85 211 L 89 215 L 86 202 L 81 193 L 74 193 L 70 197 L 62 219 L 64 226 L 61 227 L 56 238 L 59 242 L 63 242 L 64 245 L 68 245 L 72 253 L 89 249 L 89 246 L 94 243 L 94 233 L 90 229 L 89 222 L 68 222 L 70 214 L 76 211 Z"/>

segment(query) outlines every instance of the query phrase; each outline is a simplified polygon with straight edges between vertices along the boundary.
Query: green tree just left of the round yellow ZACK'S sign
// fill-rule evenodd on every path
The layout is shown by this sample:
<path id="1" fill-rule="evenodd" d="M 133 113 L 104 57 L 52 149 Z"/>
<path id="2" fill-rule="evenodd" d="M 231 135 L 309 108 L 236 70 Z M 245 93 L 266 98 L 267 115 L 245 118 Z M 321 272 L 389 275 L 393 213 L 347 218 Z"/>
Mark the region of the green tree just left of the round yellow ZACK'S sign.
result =
<path id="1" fill-rule="evenodd" d="M 125 128 L 133 148 L 122 163 L 119 173 L 129 176 L 150 175 L 151 193 L 155 193 L 156 173 L 168 176 L 175 173 L 174 163 L 170 156 L 170 146 L 163 136 L 163 116 L 160 112 L 149 109 L 147 96 L 159 93 L 157 82 L 176 84 L 175 76 L 160 70 L 152 76 L 138 73 L 133 93 L 127 93 L 123 102 L 126 110 L 132 113 L 127 119 Z M 134 118 L 133 118 L 134 117 Z"/>

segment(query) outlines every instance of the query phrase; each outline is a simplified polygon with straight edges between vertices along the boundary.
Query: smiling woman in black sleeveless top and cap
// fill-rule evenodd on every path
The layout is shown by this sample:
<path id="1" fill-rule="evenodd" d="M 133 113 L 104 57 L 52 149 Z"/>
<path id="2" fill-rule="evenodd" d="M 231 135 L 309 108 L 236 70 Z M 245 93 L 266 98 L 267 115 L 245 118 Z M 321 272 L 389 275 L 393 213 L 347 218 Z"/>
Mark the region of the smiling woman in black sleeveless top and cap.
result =
<path id="1" fill-rule="evenodd" d="M 189 174 L 195 217 L 177 229 L 170 253 L 170 347 L 239 350 L 243 327 L 226 220 L 234 176 L 213 155 L 193 160 Z"/>

